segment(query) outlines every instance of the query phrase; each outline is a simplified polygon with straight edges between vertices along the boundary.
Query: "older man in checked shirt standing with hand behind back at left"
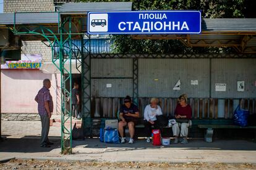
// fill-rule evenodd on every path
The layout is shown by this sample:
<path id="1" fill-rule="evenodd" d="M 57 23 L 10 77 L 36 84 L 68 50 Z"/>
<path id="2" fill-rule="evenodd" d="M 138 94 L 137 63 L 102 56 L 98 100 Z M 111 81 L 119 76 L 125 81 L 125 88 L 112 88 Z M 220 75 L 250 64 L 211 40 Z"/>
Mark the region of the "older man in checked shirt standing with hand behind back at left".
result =
<path id="1" fill-rule="evenodd" d="M 49 119 L 51 118 L 51 113 L 53 113 L 53 97 L 49 92 L 51 87 L 51 81 L 49 79 L 43 80 L 43 87 L 38 91 L 38 94 L 35 97 L 35 101 L 38 103 L 38 113 L 41 118 L 41 140 L 40 147 L 48 148 L 49 145 L 53 143 L 49 142 Z"/>

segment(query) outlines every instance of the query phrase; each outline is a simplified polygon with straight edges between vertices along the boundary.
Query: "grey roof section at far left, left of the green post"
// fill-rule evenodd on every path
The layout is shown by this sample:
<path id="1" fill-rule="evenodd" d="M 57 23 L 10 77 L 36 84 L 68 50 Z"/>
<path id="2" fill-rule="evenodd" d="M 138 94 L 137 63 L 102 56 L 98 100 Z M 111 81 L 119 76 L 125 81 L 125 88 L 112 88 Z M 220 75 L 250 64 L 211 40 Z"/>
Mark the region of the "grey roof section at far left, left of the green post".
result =
<path id="1" fill-rule="evenodd" d="M 0 14 L 0 25 L 14 24 L 14 16 L 16 24 L 40 24 L 40 23 L 58 23 L 58 12 L 26 12 L 26 13 L 3 13 Z"/>

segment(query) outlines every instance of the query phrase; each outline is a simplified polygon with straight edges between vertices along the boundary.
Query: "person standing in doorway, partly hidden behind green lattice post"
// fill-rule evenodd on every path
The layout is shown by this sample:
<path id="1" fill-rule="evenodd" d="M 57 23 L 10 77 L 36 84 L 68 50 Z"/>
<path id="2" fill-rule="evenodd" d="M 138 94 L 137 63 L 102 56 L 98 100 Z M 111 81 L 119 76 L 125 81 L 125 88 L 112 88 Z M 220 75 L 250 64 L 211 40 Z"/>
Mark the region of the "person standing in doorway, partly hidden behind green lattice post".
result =
<path id="1" fill-rule="evenodd" d="M 79 84 L 74 83 L 74 87 L 71 91 L 71 99 L 72 99 L 72 117 L 77 119 L 79 115 Z"/>

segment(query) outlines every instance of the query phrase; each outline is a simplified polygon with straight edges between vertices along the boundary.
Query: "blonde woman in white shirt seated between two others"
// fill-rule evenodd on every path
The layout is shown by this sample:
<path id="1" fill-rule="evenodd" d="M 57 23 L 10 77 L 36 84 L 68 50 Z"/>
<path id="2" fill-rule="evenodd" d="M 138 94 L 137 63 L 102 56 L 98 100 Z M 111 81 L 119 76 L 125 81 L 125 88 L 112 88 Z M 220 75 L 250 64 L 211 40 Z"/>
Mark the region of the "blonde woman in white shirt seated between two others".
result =
<path id="1" fill-rule="evenodd" d="M 160 106 L 158 105 L 158 99 L 152 98 L 150 104 L 145 107 L 144 110 L 144 126 L 145 134 L 147 136 L 147 142 L 150 142 L 151 126 L 158 129 L 158 122 L 156 116 L 163 115 Z"/>

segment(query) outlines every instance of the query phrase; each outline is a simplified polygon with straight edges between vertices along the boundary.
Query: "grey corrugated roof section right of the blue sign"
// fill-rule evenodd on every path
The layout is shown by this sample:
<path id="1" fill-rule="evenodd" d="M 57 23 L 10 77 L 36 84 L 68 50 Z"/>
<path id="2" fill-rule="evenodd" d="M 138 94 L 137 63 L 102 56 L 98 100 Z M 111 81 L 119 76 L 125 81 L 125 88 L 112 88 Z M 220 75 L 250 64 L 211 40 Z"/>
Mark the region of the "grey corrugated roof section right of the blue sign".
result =
<path id="1" fill-rule="evenodd" d="M 256 31 L 256 18 L 204 18 L 202 31 Z"/>

